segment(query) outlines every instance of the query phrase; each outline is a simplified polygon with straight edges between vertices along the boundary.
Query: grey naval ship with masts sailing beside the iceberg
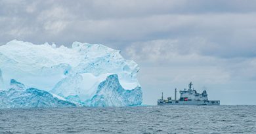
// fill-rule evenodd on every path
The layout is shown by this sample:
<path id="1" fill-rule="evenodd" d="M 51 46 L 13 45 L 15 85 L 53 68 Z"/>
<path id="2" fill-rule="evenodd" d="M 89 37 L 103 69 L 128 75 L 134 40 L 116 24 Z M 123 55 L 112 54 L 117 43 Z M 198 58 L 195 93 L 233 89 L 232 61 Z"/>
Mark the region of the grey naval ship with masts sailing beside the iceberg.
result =
<path id="1" fill-rule="evenodd" d="M 188 84 L 188 90 L 180 90 L 181 97 L 179 100 L 176 99 L 177 89 L 175 88 L 175 99 L 167 97 L 163 99 L 163 93 L 161 93 L 161 99 L 158 99 L 158 105 L 220 105 L 219 100 L 210 101 L 208 100 L 207 93 L 203 90 L 202 93 L 196 92 L 192 89 L 192 82 Z"/>

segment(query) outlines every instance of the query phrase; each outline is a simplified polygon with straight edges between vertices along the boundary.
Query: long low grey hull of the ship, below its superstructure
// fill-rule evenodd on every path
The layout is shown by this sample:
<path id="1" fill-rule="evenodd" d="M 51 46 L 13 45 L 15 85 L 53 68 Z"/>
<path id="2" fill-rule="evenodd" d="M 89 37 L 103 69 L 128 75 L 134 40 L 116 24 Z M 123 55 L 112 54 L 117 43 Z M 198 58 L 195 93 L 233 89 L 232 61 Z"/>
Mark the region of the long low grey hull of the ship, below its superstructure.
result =
<path id="1" fill-rule="evenodd" d="M 220 105 L 220 101 L 162 101 L 158 100 L 158 105 Z"/>

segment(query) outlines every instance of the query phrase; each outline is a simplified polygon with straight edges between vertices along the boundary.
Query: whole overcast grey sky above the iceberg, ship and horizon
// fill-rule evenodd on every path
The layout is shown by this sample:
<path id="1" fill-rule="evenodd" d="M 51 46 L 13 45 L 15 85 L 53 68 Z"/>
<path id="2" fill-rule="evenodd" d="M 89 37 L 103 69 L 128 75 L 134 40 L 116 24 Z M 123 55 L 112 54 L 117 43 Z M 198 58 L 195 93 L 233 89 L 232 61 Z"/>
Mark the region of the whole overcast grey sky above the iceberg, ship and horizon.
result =
<path id="1" fill-rule="evenodd" d="M 256 105 L 256 1 L 0 0 L 0 44 L 104 44 L 140 66 L 143 104 L 193 82 L 222 105 Z"/>

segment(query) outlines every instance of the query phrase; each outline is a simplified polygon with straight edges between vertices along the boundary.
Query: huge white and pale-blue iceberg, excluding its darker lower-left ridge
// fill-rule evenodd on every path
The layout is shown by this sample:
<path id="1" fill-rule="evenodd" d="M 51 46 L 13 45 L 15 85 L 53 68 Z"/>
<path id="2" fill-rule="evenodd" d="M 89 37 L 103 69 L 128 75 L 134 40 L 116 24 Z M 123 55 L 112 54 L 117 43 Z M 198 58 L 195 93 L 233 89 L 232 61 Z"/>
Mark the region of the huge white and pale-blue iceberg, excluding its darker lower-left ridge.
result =
<path id="1" fill-rule="evenodd" d="M 56 48 L 14 40 L 0 46 L 0 98 L 15 80 L 76 106 L 140 105 L 138 71 L 137 63 L 102 44 L 74 42 L 72 48 Z"/>

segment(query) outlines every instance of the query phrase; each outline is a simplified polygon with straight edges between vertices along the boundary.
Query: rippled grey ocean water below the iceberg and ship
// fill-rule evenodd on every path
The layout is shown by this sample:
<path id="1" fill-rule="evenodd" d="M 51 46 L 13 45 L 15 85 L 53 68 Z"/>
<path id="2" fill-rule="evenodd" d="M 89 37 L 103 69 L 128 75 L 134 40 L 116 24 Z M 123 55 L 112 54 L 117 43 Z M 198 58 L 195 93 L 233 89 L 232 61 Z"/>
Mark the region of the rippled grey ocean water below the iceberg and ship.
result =
<path id="1" fill-rule="evenodd" d="M 256 106 L 0 109 L 0 133 L 256 133 Z"/>

